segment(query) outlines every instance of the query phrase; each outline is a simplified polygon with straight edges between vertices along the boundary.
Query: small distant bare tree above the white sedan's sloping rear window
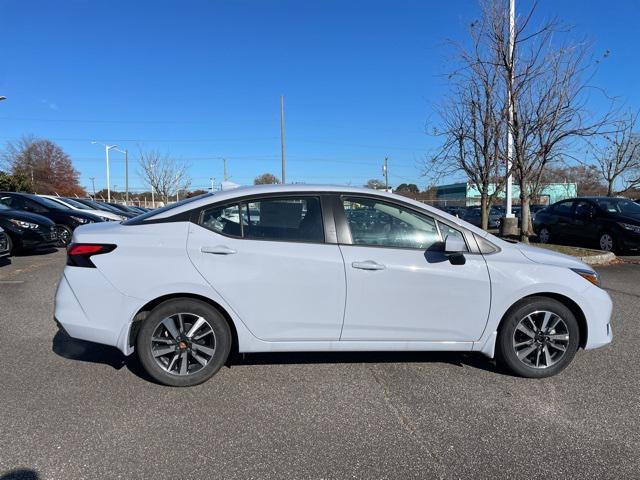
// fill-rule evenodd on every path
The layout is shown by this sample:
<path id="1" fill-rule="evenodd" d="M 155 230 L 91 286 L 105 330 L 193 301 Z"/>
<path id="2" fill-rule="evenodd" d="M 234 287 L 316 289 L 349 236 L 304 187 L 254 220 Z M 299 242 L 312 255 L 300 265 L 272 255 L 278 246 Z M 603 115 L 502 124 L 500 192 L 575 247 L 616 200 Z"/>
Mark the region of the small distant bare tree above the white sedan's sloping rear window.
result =
<path id="1" fill-rule="evenodd" d="M 140 150 L 138 163 L 139 175 L 165 202 L 168 202 L 169 197 L 176 192 L 186 190 L 191 185 L 188 165 L 175 160 L 168 154 L 156 150 Z"/>

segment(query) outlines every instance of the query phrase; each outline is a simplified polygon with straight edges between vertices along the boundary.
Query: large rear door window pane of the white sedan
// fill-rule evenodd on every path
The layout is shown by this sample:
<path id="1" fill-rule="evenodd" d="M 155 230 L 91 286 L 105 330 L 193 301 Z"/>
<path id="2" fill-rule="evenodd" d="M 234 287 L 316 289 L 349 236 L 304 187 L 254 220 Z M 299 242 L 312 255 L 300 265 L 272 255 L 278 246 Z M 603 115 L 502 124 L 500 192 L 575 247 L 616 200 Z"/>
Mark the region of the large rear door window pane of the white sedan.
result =
<path id="1" fill-rule="evenodd" d="M 324 242 L 318 197 L 263 198 L 244 203 L 242 213 L 244 238 Z"/>

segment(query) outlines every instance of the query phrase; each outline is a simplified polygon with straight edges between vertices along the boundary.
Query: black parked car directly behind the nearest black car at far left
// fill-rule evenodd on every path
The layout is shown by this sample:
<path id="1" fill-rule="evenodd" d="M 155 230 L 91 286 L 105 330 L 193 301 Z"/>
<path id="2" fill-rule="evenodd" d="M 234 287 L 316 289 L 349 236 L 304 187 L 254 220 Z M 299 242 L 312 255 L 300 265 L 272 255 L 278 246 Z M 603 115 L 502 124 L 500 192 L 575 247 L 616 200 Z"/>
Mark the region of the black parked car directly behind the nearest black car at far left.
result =
<path id="1" fill-rule="evenodd" d="M 0 192 L 0 202 L 15 210 L 37 213 L 53 221 L 59 246 L 66 246 L 71 242 L 71 236 L 76 227 L 102 222 L 102 218 L 97 215 L 63 208 L 53 200 L 30 193 Z"/>

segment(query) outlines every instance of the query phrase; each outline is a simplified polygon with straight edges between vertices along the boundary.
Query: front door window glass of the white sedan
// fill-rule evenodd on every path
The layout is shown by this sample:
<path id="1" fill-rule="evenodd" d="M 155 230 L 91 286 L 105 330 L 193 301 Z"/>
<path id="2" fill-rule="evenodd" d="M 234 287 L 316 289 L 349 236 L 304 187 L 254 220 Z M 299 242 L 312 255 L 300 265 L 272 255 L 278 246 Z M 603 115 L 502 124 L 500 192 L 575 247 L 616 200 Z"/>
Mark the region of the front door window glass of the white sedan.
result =
<path id="1" fill-rule="evenodd" d="M 354 245 L 426 250 L 442 242 L 436 221 L 409 209 L 371 198 L 346 197 L 342 204 Z"/>

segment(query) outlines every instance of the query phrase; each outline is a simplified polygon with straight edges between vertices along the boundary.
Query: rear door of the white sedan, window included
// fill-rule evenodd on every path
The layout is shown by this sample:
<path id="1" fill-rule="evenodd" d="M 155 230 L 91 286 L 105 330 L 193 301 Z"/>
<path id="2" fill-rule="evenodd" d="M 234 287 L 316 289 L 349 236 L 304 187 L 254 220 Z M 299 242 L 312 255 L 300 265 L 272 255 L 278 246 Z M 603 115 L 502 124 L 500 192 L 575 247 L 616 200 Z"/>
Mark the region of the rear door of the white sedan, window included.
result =
<path id="1" fill-rule="evenodd" d="M 344 262 L 322 207 L 319 195 L 253 198 L 206 208 L 190 227 L 191 261 L 257 338 L 340 338 Z"/>

